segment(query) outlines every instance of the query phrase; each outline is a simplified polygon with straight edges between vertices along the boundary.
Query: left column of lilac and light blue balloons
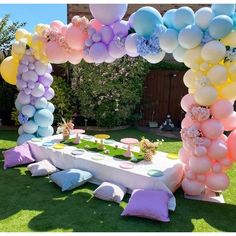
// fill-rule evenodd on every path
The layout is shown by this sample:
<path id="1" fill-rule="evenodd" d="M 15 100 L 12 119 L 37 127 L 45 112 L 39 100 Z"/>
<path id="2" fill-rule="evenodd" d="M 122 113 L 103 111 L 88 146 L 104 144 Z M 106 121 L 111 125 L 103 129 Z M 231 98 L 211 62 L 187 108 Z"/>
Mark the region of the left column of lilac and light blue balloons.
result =
<path id="1" fill-rule="evenodd" d="M 31 49 L 25 51 L 19 63 L 16 83 L 19 94 L 15 106 L 21 124 L 18 129 L 18 145 L 34 137 L 47 137 L 54 133 L 51 125 L 55 107 L 48 102 L 54 97 L 51 72 L 51 64 L 35 59 Z"/>

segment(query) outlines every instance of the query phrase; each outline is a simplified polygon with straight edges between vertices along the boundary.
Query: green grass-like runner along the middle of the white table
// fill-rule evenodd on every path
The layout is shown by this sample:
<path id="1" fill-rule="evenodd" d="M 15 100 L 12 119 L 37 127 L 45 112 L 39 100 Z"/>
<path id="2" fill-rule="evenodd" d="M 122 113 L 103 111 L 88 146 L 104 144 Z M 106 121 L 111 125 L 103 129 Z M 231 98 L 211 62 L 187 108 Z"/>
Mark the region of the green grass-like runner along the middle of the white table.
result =
<path id="1" fill-rule="evenodd" d="M 137 160 L 134 160 L 134 159 L 132 160 L 131 158 L 127 158 L 127 157 L 124 156 L 125 152 L 127 152 L 126 149 L 115 148 L 114 146 L 107 145 L 107 144 L 104 144 L 104 147 L 105 147 L 104 150 L 100 150 L 100 149 L 98 149 L 98 146 L 100 145 L 99 141 L 97 143 L 95 143 L 93 141 L 80 139 L 79 144 L 74 144 L 73 141 L 74 141 L 74 138 L 69 139 L 67 141 L 64 141 L 63 143 L 67 144 L 69 146 L 75 146 L 75 147 L 80 148 L 80 149 L 85 149 L 85 150 L 92 151 L 92 152 L 97 152 L 97 153 L 100 153 L 100 154 L 105 154 L 104 150 L 108 150 L 109 153 L 107 153 L 105 155 L 110 156 L 110 157 L 115 157 L 115 158 L 118 158 L 118 159 L 122 159 L 122 160 L 126 160 L 126 161 L 130 160 L 131 162 L 139 162 L 139 161 L 142 161 L 144 159 L 142 153 L 133 152 L 132 150 L 131 150 L 131 152 L 133 153 L 134 157 Z"/>

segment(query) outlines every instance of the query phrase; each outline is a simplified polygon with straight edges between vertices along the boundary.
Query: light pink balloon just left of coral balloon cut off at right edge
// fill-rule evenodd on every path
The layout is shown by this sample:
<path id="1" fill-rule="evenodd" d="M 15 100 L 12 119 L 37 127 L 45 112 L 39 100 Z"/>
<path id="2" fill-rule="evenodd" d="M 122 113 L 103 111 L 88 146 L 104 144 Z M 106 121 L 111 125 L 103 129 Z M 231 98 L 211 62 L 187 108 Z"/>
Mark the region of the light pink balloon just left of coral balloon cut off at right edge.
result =
<path id="1" fill-rule="evenodd" d="M 208 148 L 208 156 L 211 159 L 221 160 L 227 155 L 227 145 L 220 139 L 213 140 Z"/>

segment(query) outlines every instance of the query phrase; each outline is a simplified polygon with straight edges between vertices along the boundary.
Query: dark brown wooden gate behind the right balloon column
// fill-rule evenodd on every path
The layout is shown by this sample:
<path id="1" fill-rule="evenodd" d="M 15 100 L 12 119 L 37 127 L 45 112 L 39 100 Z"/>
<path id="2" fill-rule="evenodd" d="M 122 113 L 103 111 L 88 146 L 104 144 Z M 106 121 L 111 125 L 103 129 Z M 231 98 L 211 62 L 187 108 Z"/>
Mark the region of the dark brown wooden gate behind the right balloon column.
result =
<path id="1" fill-rule="evenodd" d="M 170 114 L 175 125 L 184 117 L 181 98 L 188 93 L 183 83 L 185 71 L 153 70 L 145 80 L 140 125 L 156 121 L 160 125 Z"/>

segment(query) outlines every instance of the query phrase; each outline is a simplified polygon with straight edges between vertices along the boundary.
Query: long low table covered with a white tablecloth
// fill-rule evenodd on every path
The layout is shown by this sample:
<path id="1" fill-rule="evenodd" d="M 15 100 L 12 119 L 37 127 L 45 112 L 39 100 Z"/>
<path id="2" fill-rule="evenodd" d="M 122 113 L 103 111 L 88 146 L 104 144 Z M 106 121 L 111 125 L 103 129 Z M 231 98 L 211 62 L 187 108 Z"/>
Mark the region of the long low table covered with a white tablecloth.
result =
<path id="1" fill-rule="evenodd" d="M 73 137 L 73 136 L 71 136 Z M 84 135 L 81 135 L 83 138 Z M 95 139 L 95 138 L 93 138 Z M 43 142 L 58 142 L 62 140 L 62 135 L 54 135 L 44 138 L 42 142 L 29 141 L 31 152 L 37 161 L 49 160 L 60 169 L 79 168 L 87 170 L 93 174 L 90 182 L 100 184 L 103 181 L 122 184 L 130 191 L 137 188 L 144 189 L 163 189 L 172 194 L 180 185 L 183 178 L 183 166 L 179 160 L 171 160 L 166 157 L 166 153 L 157 152 L 151 162 L 140 161 L 133 163 L 134 168 L 123 169 L 120 167 L 124 160 L 104 155 L 103 160 L 94 160 L 94 152 L 86 151 L 83 155 L 74 156 L 71 154 L 77 148 L 66 146 L 64 149 L 57 150 L 53 147 L 44 147 Z M 124 148 L 124 144 L 115 142 L 109 144 L 118 145 Z M 139 151 L 138 147 L 133 147 L 133 151 Z M 160 177 L 151 177 L 147 174 L 148 170 L 158 169 L 163 172 Z M 176 206 L 175 197 L 169 202 L 169 209 L 174 210 Z"/>

